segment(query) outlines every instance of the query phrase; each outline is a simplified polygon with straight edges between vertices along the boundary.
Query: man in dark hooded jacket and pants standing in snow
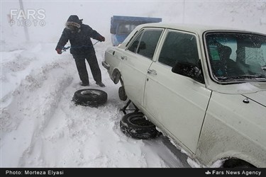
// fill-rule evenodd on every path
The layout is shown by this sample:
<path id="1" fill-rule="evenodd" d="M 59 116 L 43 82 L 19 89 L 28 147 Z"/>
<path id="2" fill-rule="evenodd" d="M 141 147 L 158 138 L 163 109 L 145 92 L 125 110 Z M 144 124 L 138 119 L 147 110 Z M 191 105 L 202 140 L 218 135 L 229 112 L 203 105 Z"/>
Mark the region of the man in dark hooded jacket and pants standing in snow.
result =
<path id="1" fill-rule="evenodd" d="M 78 16 L 72 15 L 67 19 L 65 29 L 62 32 L 59 42 L 55 50 L 57 54 L 62 54 L 62 48 L 70 40 L 71 48 L 70 53 L 74 57 L 74 61 L 77 65 L 77 71 L 79 78 L 82 81 L 82 86 L 89 86 L 89 76 L 86 68 L 85 59 L 89 63 L 89 67 L 92 71 L 92 76 L 96 84 L 104 87 L 105 85 L 101 82 L 101 69 L 96 59 L 94 46 L 92 40 L 99 40 L 100 42 L 105 41 L 105 38 L 100 35 L 96 30 L 93 30 L 89 25 L 82 23 L 83 19 L 79 19 Z"/>

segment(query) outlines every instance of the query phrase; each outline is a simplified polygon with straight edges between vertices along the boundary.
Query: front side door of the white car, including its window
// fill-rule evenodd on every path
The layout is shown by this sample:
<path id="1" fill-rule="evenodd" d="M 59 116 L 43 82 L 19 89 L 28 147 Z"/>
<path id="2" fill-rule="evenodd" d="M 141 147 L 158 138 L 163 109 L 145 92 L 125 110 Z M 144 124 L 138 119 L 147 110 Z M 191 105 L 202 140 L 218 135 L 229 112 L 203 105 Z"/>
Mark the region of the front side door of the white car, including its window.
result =
<path id="1" fill-rule="evenodd" d="M 196 41 L 193 33 L 167 30 L 157 62 L 149 68 L 144 99 L 148 113 L 194 153 L 211 91 L 199 81 L 173 73 L 172 67 L 177 61 L 199 63 Z"/>

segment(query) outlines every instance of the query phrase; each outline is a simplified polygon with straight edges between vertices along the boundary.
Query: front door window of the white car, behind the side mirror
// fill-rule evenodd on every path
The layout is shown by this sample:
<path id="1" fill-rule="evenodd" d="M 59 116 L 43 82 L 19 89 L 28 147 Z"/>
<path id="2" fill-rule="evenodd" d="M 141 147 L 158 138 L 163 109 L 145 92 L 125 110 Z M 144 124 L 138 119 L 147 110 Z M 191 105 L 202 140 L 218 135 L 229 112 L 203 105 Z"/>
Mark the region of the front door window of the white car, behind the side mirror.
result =
<path id="1" fill-rule="evenodd" d="M 175 31 L 168 32 L 158 61 L 170 67 L 174 67 L 176 62 L 197 64 L 199 54 L 196 36 Z"/>

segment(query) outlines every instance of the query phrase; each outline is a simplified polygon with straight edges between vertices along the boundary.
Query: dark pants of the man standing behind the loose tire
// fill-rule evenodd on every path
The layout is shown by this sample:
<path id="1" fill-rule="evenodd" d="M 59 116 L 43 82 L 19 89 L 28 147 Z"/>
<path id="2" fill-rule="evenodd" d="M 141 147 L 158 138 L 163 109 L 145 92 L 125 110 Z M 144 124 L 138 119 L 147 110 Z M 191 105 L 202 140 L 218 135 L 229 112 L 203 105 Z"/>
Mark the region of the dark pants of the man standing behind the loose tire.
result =
<path id="1" fill-rule="evenodd" d="M 82 81 L 82 84 L 89 84 L 89 76 L 86 68 L 85 59 L 89 63 L 89 67 L 92 71 L 92 76 L 94 81 L 101 82 L 101 69 L 96 58 L 95 53 L 77 55 L 73 54 L 74 61 L 77 65 L 77 72 L 79 72 L 79 78 Z"/>

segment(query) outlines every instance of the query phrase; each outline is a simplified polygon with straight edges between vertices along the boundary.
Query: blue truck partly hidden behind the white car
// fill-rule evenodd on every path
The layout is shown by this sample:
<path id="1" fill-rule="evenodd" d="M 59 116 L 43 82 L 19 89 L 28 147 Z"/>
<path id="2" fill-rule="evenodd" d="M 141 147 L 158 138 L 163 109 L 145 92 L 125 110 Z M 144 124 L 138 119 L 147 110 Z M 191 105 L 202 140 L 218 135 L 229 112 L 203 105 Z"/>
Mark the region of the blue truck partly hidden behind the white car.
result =
<path id="1" fill-rule="evenodd" d="M 138 17 L 138 16 L 112 16 L 111 17 L 111 40 L 113 46 L 118 46 L 137 25 L 143 23 L 159 23 L 162 18 Z"/>

